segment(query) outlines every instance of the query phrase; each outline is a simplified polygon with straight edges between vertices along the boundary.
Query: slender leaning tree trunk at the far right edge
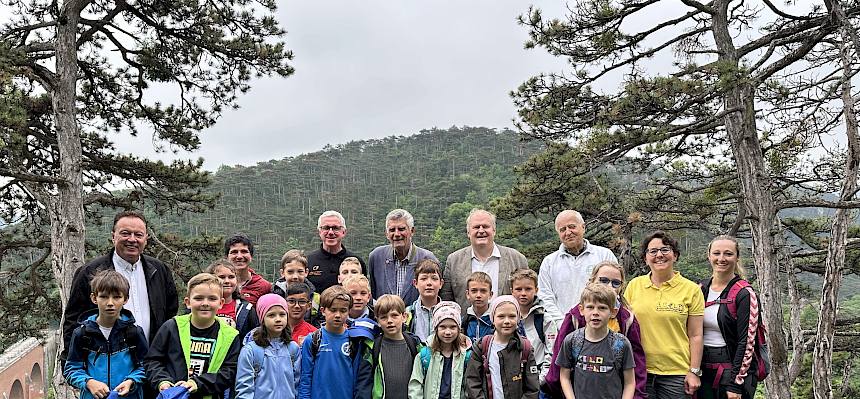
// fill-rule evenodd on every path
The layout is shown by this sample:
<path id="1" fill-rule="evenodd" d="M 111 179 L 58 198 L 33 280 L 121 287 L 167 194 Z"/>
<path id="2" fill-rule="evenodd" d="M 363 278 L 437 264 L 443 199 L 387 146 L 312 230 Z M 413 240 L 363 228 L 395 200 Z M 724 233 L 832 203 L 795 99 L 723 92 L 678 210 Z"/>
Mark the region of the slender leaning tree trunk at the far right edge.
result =
<path id="1" fill-rule="evenodd" d="M 843 21 L 845 23 L 845 21 Z M 848 29 L 840 29 L 839 58 L 842 62 L 842 104 L 845 115 L 845 134 L 848 156 L 845 158 L 845 177 L 842 180 L 840 201 L 850 201 L 857 192 L 857 170 L 860 168 L 860 139 L 857 137 L 857 115 L 851 96 L 851 38 Z M 836 333 L 836 311 L 839 304 L 839 286 L 845 266 L 845 242 L 848 239 L 849 209 L 837 209 L 830 226 L 830 243 L 824 260 L 824 283 L 818 311 L 815 349 L 812 355 L 812 392 L 815 399 L 833 398 L 833 337 Z"/>

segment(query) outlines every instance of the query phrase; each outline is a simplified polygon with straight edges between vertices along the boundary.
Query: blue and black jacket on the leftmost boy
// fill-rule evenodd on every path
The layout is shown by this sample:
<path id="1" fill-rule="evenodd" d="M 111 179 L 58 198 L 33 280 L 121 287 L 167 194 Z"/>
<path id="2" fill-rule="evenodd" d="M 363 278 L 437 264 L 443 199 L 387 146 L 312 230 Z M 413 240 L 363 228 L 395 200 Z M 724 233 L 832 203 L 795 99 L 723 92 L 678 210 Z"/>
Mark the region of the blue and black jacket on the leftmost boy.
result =
<path id="1" fill-rule="evenodd" d="M 134 325 L 131 312 L 122 309 L 109 339 L 105 339 L 96 317 L 98 309 L 81 315 L 81 325 L 72 332 L 63 376 L 81 390 L 81 399 L 93 399 L 87 389 L 90 379 L 103 382 L 110 389 L 132 380 L 134 385 L 125 398 L 143 399 L 143 358 L 148 349 L 143 330 Z"/>

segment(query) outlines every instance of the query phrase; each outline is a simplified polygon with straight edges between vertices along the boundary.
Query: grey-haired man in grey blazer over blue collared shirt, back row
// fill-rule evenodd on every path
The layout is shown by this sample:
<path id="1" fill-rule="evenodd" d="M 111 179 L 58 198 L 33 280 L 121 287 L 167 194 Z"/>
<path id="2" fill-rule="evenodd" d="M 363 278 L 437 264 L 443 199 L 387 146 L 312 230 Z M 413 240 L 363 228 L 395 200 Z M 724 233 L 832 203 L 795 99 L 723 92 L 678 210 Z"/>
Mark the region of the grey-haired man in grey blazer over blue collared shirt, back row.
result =
<path id="1" fill-rule="evenodd" d="M 418 299 L 412 285 L 415 265 L 423 259 L 438 260 L 412 242 L 414 233 L 415 218 L 406 210 L 395 209 L 385 216 L 385 238 L 390 244 L 374 248 L 367 258 L 373 299 L 385 294 L 397 295 L 407 304 Z"/>

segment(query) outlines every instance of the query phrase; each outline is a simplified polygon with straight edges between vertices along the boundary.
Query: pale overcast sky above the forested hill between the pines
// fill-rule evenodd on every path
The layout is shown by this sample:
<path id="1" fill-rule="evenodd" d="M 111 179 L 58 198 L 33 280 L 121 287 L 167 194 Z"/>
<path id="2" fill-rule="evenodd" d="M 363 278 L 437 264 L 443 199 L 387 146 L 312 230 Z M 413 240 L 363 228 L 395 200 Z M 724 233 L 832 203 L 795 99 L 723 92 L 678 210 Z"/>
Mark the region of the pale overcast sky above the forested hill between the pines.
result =
<path id="1" fill-rule="evenodd" d="M 203 157 L 214 170 L 432 127 L 510 127 L 508 93 L 565 69 L 564 60 L 523 48 L 528 31 L 516 17 L 529 4 L 563 12 L 558 1 L 280 0 L 295 74 L 252 82 L 241 108 L 201 134 L 199 151 L 179 157 Z M 174 157 L 155 155 L 142 136 L 116 137 L 118 149 Z"/>

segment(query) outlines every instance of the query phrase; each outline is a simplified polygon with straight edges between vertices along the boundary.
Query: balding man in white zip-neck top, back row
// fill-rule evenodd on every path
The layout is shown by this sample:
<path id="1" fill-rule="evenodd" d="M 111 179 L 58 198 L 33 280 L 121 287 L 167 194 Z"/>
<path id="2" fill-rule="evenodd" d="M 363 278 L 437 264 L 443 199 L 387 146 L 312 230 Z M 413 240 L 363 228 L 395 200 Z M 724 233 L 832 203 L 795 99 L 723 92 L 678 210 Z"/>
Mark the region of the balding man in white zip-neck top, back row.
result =
<path id="1" fill-rule="evenodd" d="M 561 211 L 555 218 L 555 231 L 561 245 L 541 262 L 537 295 L 546 313 L 561 320 L 579 303 L 594 265 L 604 260 L 618 262 L 618 259 L 609 249 L 585 239 L 585 222 L 577 211 Z"/>

